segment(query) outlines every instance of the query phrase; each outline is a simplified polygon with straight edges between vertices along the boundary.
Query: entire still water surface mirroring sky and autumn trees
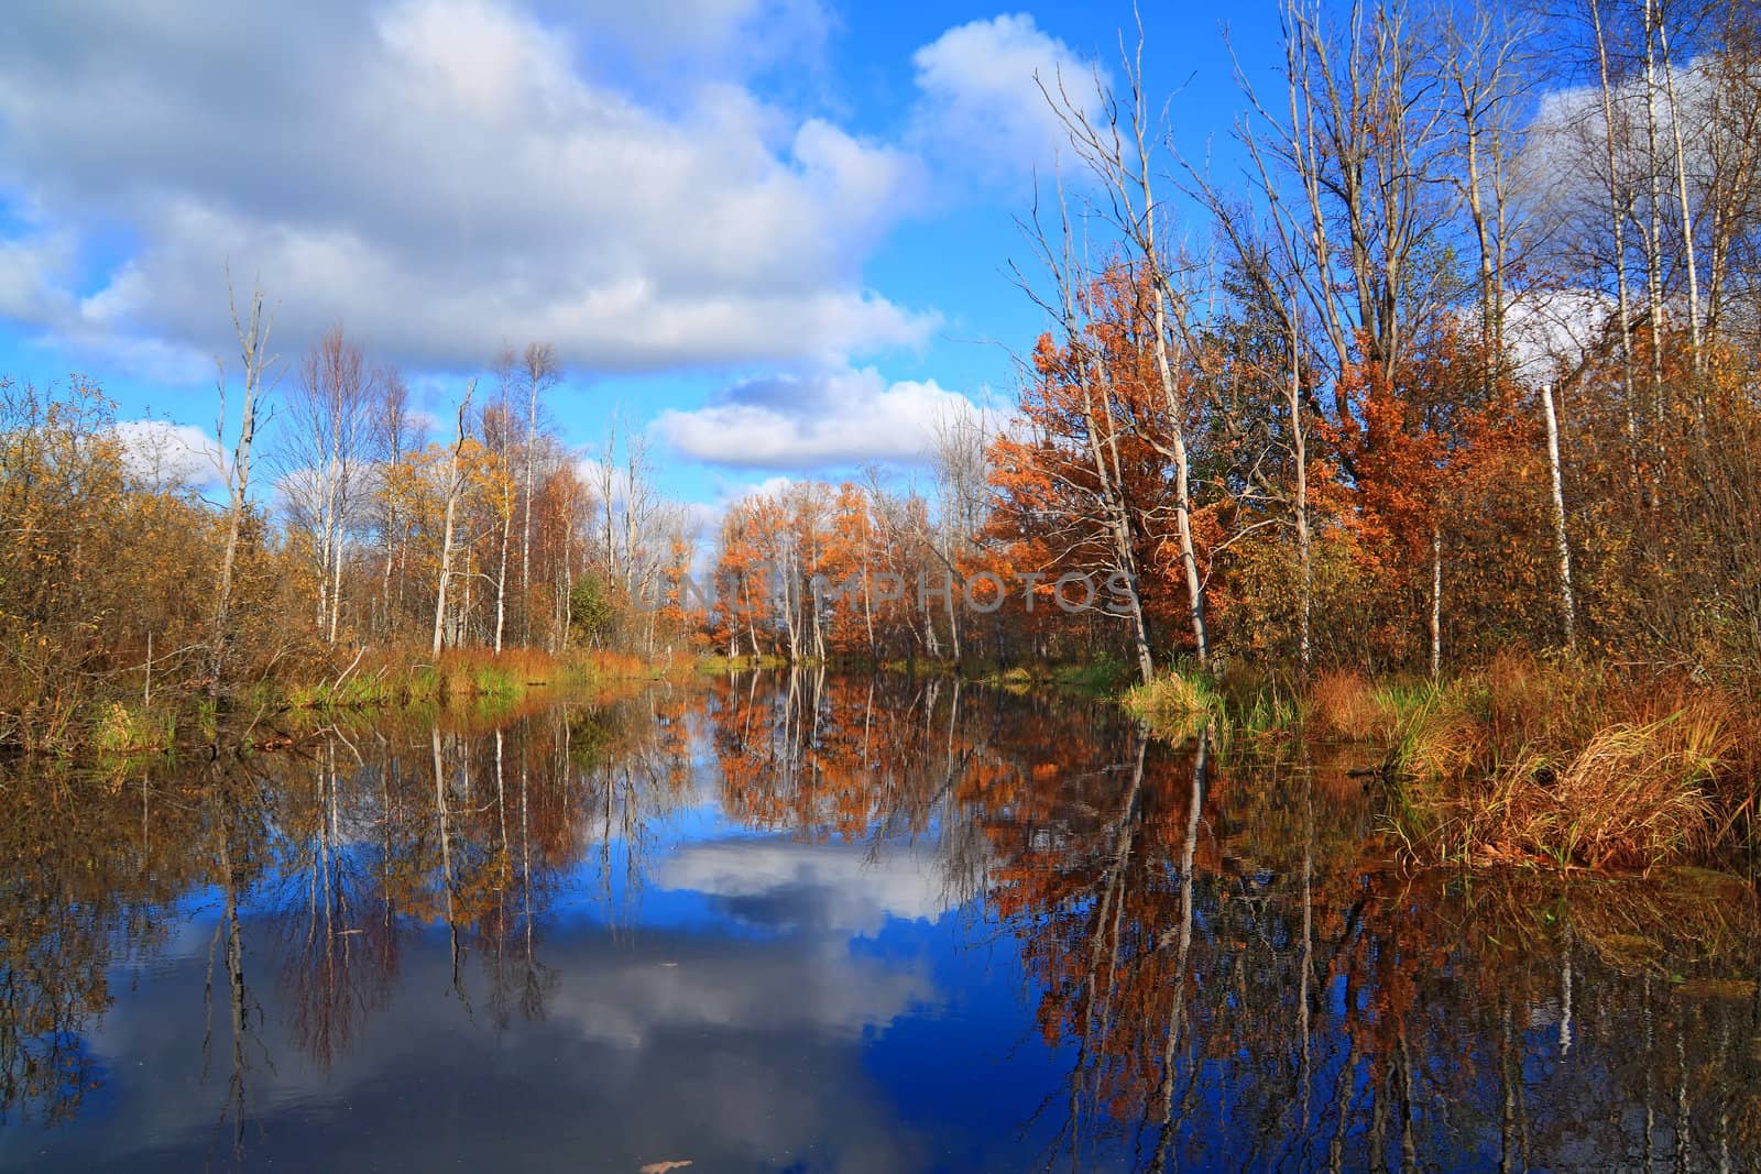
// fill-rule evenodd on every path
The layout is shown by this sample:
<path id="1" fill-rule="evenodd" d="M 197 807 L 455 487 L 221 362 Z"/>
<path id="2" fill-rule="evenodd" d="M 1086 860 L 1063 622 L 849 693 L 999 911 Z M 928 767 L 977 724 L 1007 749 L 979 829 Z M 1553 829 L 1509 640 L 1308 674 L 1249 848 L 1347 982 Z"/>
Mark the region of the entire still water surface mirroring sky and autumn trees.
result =
<path id="1" fill-rule="evenodd" d="M 1749 887 L 1351 766 L 745 674 L 4 780 L 0 1167 L 1761 1167 Z"/>

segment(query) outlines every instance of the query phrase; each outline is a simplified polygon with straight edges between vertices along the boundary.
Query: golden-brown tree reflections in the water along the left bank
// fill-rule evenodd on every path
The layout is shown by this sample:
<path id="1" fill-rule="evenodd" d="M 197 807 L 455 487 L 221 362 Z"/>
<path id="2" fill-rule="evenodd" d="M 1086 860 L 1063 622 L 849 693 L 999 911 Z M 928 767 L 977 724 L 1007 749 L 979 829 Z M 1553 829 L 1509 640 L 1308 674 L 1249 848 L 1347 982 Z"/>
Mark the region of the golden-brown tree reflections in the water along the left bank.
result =
<path id="1" fill-rule="evenodd" d="M 234 1146 L 250 1074 L 273 1068 L 250 975 L 275 977 L 278 1017 L 319 1067 L 386 1005 L 405 938 L 428 926 L 451 940 L 467 1009 L 483 1003 L 497 1024 L 541 1017 L 544 914 L 602 836 L 648 843 L 648 824 L 678 806 L 685 729 L 683 697 L 646 695 L 16 789 L 26 797 L 0 822 L 0 854 L 16 861 L 0 882 L 0 1119 L 77 1114 L 100 1079 L 85 1040 L 113 970 L 151 954 L 167 906 L 204 887 L 218 898 L 204 1074 L 224 1074 L 218 1119 Z M 269 958 L 254 966 L 259 924 Z M 477 986 L 486 996 L 472 1000 Z"/>

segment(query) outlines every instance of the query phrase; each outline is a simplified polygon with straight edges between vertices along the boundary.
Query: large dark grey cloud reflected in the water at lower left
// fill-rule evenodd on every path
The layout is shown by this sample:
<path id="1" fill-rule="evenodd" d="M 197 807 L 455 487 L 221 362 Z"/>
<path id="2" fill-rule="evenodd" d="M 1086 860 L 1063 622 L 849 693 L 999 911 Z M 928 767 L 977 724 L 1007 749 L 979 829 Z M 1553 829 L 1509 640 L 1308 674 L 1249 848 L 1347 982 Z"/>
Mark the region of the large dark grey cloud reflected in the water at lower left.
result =
<path id="1" fill-rule="evenodd" d="M 569 1123 L 521 1142 L 542 1169 L 581 1167 L 588 1155 L 592 1169 L 636 1170 L 674 1153 L 704 1170 L 923 1165 L 921 1139 L 875 1097 L 863 1060 L 866 1037 L 946 1005 L 921 961 L 856 952 L 833 935 L 676 933 L 646 922 L 613 933 L 556 919 L 539 936 L 544 1014 L 498 1023 L 495 993 L 519 980 L 519 961 L 472 950 L 454 970 L 444 935 L 437 945 L 435 935 L 407 931 L 387 996 L 343 1009 L 342 1023 L 354 1028 L 326 1037 L 338 1046 L 319 1074 L 313 1040 L 299 1031 L 310 958 L 284 954 L 275 929 L 250 921 L 245 931 L 264 935 L 247 940 L 266 950 L 262 968 L 247 972 L 264 1009 L 252 1023 L 247 1104 L 261 1160 L 289 1139 L 301 1148 L 313 1111 L 340 1109 L 370 1112 L 375 1128 L 347 1139 L 319 1130 L 329 1148 L 313 1156 L 305 1144 L 308 1165 L 497 1169 L 507 1163 L 509 1114 Z M 114 1005 L 83 1037 L 104 1072 L 113 1128 L 41 1132 L 32 1139 L 39 1163 L 192 1165 L 215 1148 L 229 1068 L 217 1056 L 217 1079 L 203 1065 L 203 1000 L 190 994 L 203 982 L 213 917 L 171 933 L 173 949 L 125 970 Z M 470 1002 L 440 994 L 460 979 Z M 442 1070 L 465 1102 L 502 1105 L 486 1116 L 502 1128 L 435 1130 L 431 1114 L 391 1104 Z M 315 1079 L 324 1088 L 317 1109 Z"/>

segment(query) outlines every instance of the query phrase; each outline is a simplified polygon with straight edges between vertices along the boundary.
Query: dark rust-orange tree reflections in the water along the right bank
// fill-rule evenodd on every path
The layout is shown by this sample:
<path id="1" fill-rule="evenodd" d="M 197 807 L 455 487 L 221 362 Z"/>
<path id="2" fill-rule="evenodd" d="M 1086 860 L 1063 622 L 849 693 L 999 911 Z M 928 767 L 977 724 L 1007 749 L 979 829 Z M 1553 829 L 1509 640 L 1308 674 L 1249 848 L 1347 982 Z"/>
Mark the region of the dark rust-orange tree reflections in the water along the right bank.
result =
<path id="1" fill-rule="evenodd" d="M 1035 778 L 1044 737 L 998 737 L 1014 792 L 969 801 L 1072 1063 L 1048 1165 L 1761 1158 L 1747 891 L 1409 877 L 1367 841 L 1372 801 L 1308 766 L 1060 727 L 1071 769 Z"/>

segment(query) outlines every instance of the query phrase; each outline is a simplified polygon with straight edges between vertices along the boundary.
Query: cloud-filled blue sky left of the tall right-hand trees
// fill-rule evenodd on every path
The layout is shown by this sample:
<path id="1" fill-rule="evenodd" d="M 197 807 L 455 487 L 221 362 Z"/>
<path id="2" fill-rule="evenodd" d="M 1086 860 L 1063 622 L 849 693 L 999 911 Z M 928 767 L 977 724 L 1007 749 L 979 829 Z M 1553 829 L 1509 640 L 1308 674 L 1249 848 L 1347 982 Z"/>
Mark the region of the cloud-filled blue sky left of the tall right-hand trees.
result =
<path id="1" fill-rule="evenodd" d="M 254 5 L 255 7 L 255 5 Z M 0 46 L 0 371 L 211 428 L 222 268 L 278 350 L 340 320 L 446 417 L 553 341 L 562 435 L 613 412 L 713 509 L 910 477 L 956 396 L 1007 407 L 1041 327 L 1006 269 L 1057 143 L 1032 74 L 1118 77 L 1127 4 L 178 0 L 44 5 Z M 1275 84 L 1268 2 L 1145 14 L 1175 148 Z M 271 48 L 273 46 L 273 48 Z M 247 276 L 248 280 L 248 276 Z M 192 433 L 185 433 L 192 435 Z"/>

